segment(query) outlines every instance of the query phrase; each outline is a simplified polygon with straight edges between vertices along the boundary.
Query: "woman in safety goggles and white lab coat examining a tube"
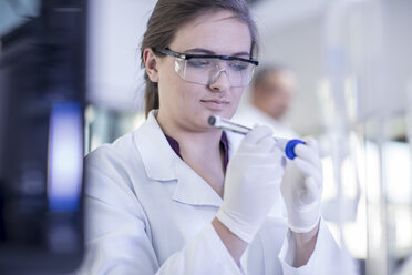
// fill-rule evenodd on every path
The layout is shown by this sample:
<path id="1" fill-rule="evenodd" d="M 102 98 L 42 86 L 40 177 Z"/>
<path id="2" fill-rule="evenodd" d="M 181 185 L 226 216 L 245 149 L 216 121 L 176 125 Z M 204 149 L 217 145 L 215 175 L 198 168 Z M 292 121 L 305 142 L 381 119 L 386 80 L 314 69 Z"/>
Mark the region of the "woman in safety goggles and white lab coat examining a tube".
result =
<path id="1" fill-rule="evenodd" d="M 284 174 L 268 128 L 240 141 L 207 124 L 233 116 L 256 54 L 244 1 L 157 2 L 142 42 L 147 120 L 86 160 L 80 273 L 338 274 L 316 143 Z M 280 190 L 288 223 L 270 214 Z"/>

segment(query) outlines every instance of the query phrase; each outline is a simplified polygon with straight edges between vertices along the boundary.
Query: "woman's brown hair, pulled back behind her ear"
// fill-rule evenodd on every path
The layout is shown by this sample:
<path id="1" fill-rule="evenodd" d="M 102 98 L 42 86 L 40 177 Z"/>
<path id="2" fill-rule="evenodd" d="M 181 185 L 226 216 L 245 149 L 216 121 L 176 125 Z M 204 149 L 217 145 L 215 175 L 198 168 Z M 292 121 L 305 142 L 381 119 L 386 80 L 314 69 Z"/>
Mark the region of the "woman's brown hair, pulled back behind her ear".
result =
<path id="1" fill-rule="evenodd" d="M 251 45 L 250 54 L 257 55 L 258 33 L 254 20 L 250 17 L 249 9 L 245 0 L 158 0 L 151 18 L 147 22 L 146 32 L 143 35 L 141 44 L 142 68 L 144 68 L 143 51 L 152 48 L 156 55 L 163 55 L 155 49 L 163 49 L 173 41 L 176 31 L 194 20 L 199 14 L 216 10 L 228 10 L 236 17 L 245 21 L 250 30 Z M 150 80 L 144 72 L 145 86 L 145 114 L 153 109 L 158 109 L 158 88 L 157 83 Z"/>

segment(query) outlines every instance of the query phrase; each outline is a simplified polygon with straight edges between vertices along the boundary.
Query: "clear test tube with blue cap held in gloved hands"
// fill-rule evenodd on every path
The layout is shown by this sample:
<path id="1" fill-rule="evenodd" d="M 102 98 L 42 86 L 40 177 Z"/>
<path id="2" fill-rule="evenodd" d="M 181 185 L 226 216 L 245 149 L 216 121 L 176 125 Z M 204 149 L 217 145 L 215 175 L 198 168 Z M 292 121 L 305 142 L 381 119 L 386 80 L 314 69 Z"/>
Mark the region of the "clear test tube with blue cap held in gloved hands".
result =
<path id="1" fill-rule="evenodd" d="M 230 120 L 223 119 L 219 115 L 210 115 L 207 122 L 212 126 L 215 126 L 222 130 L 231 131 L 231 132 L 239 133 L 239 134 L 247 134 L 251 130 L 251 128 L 247 128 L 238 123 L 235 123 Z M 276 136 L 274 136 L 274 139 L 276 140 L 276 146 L 280 151 L 282 151 L 285 155 L 290 160 L 293 160 L 296 157 L 295 146 L 300 143 L 306 144 L 305 141 L 298 140 L 298 139 L 287 140 L 287 139 L 276 138 Z"/>

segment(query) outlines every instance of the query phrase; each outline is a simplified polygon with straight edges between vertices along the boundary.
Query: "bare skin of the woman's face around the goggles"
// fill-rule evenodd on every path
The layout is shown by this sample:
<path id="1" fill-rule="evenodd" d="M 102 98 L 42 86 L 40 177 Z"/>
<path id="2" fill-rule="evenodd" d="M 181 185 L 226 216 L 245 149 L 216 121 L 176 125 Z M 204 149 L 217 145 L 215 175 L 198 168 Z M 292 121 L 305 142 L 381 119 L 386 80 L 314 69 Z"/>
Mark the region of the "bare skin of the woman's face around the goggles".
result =
<path id="1" fill-rule="evenodd" d="M 251 38 L 248 26 L 231 12 L 207 13 L 182 27 L 169 49 L 187 54 L 219 54 L 249 59 Z M 204 131 L 207 119 L 217 114 L 231 118 L 245 88 L 233 88 L 226 73 L 209 85 L 185 81 L 175 72 L 175 58 L 159 59 L 159 114 L 179 128 Z"/>

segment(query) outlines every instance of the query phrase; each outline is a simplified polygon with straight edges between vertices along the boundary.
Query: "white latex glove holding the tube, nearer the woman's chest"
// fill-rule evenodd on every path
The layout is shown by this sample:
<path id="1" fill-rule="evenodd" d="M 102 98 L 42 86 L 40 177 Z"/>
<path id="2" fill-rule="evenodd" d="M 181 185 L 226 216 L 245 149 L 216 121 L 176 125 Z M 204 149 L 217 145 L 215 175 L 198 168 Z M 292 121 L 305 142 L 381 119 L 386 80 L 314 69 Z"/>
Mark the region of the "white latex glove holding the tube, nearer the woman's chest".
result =
<path id="1" fill-rule="evenodd" d="M 268 126 L 251 130 L 229 161 L 217 218 L 250 243 L 275 203 L 281 182 L 281 153 Z"/>

